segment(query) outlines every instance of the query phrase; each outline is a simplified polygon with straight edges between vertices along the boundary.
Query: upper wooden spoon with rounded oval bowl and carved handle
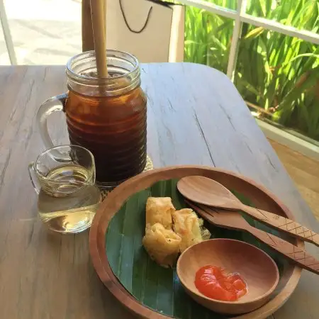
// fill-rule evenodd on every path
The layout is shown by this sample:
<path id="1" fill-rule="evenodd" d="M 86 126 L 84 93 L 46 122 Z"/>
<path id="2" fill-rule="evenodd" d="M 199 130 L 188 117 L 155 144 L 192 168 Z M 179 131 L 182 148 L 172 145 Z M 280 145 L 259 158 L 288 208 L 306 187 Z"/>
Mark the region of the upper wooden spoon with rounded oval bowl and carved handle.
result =
<path id="1" fill-rule="evenodd" d="M 314 233 L 313 230 L 289 218 L 243 204 L 231 191 L 218 183 L 218 181 L 202 176 L 189 176 L 178 181 L 177 189 L 190 201 L 206 206 L 243 211 L 264 224 L 282 230 L 306 242 L 311 242 L 319 247 L 319 235 Z"/>

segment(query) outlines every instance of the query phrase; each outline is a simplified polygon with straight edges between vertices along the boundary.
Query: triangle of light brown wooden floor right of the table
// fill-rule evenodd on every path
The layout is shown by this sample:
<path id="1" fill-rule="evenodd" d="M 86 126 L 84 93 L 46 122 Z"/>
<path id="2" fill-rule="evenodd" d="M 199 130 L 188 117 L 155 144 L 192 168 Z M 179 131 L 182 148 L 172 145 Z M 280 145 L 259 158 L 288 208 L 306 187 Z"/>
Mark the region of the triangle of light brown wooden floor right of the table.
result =
<path id="1" fill-rule="evenodd" d="M 319 220 L 319 162 L 269 140 L 287 172 Z"/>

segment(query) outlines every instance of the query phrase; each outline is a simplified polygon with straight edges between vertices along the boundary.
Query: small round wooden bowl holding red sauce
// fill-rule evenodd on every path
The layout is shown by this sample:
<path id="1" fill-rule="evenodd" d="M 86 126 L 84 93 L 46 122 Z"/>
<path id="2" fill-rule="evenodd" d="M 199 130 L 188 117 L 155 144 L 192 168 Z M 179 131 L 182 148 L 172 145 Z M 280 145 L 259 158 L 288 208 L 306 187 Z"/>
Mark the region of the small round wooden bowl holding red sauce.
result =
<path id="1" fill-rule="evenodd" d="M 247 284 L 246 295 L 238 301 L 218 301 L 201 294 L 194 284 L 195 274 L 207 265 L 238 272 Z M 248 313 L 263 306 L 279 282 L 276 263 L 266 252 L 247 242 L 224 238 L 206 240 L 185 250 L 177 262 L 177 275 L 196 302 L 218 313 L 231 315 Z"/>

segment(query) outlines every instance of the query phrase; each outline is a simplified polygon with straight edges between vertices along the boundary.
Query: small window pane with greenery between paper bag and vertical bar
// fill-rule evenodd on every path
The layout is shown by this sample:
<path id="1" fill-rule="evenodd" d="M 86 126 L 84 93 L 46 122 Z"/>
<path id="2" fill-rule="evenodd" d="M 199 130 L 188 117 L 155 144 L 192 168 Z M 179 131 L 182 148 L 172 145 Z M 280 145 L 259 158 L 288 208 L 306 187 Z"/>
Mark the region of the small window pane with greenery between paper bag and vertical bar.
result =
<path id="1" fill-rule="evenodd" d="M 227 71 L 234 21 L 186 7 L 184 61 Z"/>

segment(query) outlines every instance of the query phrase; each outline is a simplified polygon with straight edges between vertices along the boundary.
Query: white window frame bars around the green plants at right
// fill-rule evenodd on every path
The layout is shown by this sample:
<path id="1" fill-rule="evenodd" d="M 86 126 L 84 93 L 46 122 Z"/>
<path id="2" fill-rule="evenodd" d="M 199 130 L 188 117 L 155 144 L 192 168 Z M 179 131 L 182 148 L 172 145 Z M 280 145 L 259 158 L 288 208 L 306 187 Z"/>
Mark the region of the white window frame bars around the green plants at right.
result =
<path id="1" fill-rule="evenodd" d="M 231 18 L 235 21 L 227 67 L 227 75 L 232 81 L 237 62 L 237 50 L 240 40 L 240 30 L 242 29 L 242 23 L 249 23 L 252 26 L 263 27 L 267 30 L 272 30 L 319 45 L 319 34 L 317 33 L 307 30 L 298 30 L 297 28 L 285 26 L 284 24 L 278 23 L 276 21 L 247 14 L 247 0 L 237 0 L 237 10 L 224 8 L 222 6 L 217 6 L 216 4 L 211 4 L 208 1 L 201 0 L 179 0 L 179 3 L 186 4 L 188 6 L 194 6 L 198 9 L 204 9 L 211 13 L 216 13 L 220 16 Z M 298 136 L 289 133 L 290 130 L 281 130 L 279 128 L 275 128 L 273 125 L 263 123 L 259 120 L 257 120 L 257 123 L 268 138 L 276 140 L 277 142 L 280 142 L 281 144 L 284 144 L 292 148 L 293 150 L 297 150 L 298 152 L 301 152 L 306 156 L 319 159 L 318 142 L 307 142 L 306 140 L 298 138 Z"/>

